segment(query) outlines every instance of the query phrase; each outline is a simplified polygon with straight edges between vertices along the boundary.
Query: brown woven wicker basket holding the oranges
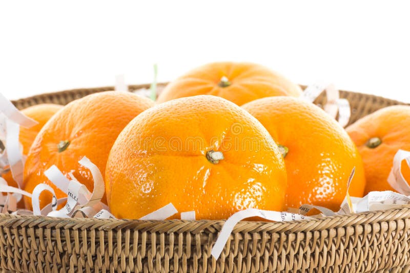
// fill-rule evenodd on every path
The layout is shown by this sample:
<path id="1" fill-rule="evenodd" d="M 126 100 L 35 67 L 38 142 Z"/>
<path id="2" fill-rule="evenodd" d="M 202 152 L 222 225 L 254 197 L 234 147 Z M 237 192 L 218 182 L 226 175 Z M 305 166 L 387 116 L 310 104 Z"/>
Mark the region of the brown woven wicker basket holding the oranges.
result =
<path id="1" fill-rule="evenodd" d="M 148 85 L 130 86 L 131 90 Z M 75 89 L 14 101 L 18 108 L 66 104 L 113 87 Z M 351 122 L 402 104 L 342 92 Z M 317 103 L 323 103 L 320 97 Z M 223 220 L 57 219 L 0 214 L 0 268 L 110 272 L 408 272 L 410 209 L 293 222 L 239 222 L 220 258 L 211 247 Z"/>

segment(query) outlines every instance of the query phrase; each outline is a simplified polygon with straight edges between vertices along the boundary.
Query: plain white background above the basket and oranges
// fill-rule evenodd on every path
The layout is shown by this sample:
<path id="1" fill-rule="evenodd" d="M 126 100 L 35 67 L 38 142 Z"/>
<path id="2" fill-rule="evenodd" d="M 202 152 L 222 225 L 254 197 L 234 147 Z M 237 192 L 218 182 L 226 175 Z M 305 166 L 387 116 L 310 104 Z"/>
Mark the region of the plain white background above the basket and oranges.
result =
<path id="1" fill-rule="evenodd" d="M 0 92 L 172 80 L 220 60 L 410 102 L 410 15 L 385 1 L 2 1 Z"/>

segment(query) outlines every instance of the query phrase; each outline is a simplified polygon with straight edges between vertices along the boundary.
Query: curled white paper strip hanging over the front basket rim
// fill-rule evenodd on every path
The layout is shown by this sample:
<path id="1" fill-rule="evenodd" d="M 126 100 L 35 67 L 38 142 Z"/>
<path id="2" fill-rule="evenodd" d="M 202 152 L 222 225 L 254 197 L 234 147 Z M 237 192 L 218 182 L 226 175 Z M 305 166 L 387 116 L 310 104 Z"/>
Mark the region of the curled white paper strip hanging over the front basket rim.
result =
<path id="1" fill-rule="evenodd" d="M 239 221 L 245 218 L 255 217 L 255 216 L 261 217 L 263 219 L 271 220 L 271 221 L 278 221 L 278 222 L 312 219 L 311 217 L 308 217 L 308 216 L 303 216 L 300 214 L 289 213 L 289 212 L 264 211 L 264 210 L 258 210 L 258 209 L 247 209 L 244 211 L 239 211 L 233 214 L 231 217 L 229 217 L 228 220 L 225 222 L 225 224 L 222 226 L 222 230 L 219 233 L 218 239 L 216 240 L 214 246 L 212 247 L 211 255 L 215 259 L 218 259 L 220 254 L 222 253 L 223 247 L 225 247 L 228 241 L 229 236 L 231 236 L 231 233 L 235 225 Z"/>

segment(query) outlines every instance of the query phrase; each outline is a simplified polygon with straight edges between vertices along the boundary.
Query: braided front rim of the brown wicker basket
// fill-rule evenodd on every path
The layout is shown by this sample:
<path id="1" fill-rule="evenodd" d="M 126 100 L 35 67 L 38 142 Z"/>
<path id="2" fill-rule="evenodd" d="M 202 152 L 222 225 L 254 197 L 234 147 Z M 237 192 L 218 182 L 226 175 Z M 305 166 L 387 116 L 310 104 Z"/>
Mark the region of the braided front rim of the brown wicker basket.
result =
<path id="1" fill-rule="evenodd" d="M 258 232 L 313 232 L 346 227 L 362 226 L 380 221 L 396 221 L 410 217 L 410 207 L 388 210 L 362 212 L 355 214 L 325 216 L 313 219 L 268 222 L 268 221 L 240 221 L 232 233 L 238 233 L 245 228 L 250 233 Z M 95 219 L 95 218 L 57 218 L 33 215 L 0 214 L 0 225 L 4 227 L 58 227 L 72 230 L 145 230 L 150 232 L 191 232 L 207 229 L 219 231 L 226 220 L 132 220 L 132 219 Z"/>

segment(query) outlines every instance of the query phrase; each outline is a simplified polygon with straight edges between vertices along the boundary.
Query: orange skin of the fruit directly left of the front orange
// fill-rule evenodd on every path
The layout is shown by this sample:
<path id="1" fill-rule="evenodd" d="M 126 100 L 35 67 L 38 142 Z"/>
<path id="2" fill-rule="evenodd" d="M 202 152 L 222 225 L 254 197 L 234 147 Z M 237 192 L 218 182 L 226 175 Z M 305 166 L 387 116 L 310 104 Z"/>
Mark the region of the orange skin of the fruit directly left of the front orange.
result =
<path id="1" fill-rule="evenodd" d="M 32 192 L 40 183 L 54 188 L 57 198 L 67 196 L 52 185 L 44 171 L 56 165 L 67 175 L 74 176 L 93 190 L 91 172 L 78 161 L 87 156 L 104 176 L 108 154 L 122 129 L 140 112 L 154 103 L 135 94 L 125 92 L 101 92 L 67 104 L 44 125 L 37 134 L 29 151 L 24 170 L 24 189 Z M 66 150 L 58 152 L 60 141 L 70 142 Z M 69 177 L 69 176 L 67 176 Z M 40 196 L 40 207 L 51 201 L 51 195 Z M 106 197 L 103 197 L 106 202 Z M 26 207 L 31 209 L 31 199 L 25 198 Z"/>

